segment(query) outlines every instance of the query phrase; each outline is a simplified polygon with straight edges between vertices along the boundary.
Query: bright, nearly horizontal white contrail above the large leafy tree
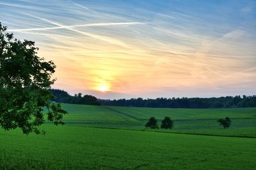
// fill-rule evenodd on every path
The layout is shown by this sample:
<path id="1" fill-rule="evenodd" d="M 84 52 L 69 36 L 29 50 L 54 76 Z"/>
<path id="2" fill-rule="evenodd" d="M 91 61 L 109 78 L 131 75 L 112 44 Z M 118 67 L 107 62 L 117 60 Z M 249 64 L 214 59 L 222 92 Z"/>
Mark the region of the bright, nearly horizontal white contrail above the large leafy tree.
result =
<path id="1" fill-rule="evenodd" d="M 110 22 L 110 23 L 94 23 L 94 24 L 79 24 L 79 25 L 63 25 L 65 29 L 75 28 L 75 27 L 94 27 L 94 26 L 109 26 L 109 25 L 136 25 L 145 24 L 143 22 Z M 55 24 L 56 25 L 56 24 Z M 46 28 L 31 28 L 31 29 L 9 29 L 8 31 L 44 31 L 52 29 L 63 29 L 62 26 L 59 27 L 46 27 Z"/>

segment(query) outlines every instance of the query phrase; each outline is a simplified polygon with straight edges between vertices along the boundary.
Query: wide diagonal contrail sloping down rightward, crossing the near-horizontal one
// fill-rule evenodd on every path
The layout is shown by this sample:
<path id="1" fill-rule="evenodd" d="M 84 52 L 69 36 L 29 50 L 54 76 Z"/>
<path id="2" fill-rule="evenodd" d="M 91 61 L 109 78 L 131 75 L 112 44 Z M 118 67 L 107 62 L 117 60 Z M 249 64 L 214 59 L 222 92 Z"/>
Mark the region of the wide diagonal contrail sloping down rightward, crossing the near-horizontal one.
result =
<path id="1" fill-rule="evenodd" d="M 125 43 L 122 43 L 121 41 L 119 41 L 118 39 L 113 39 L 113 38 L 109 38 L 109 37 L 106 37 L 106 36 L 99 36 L 97 34 L 92 34 L 90 32 L 84 32 L 84 31 L 77 31 L 76 29 L 72 29 L 70 27 L 67 27 L 65 25 L 61 25 L 61 24 L 58 24 L 56 22 L 52 22 L 50 20 L 46 20 L 45 18 L 40 18 L 40 17 L 35 17 L 33 15 L 29 15 L 31 17 L 34 17 L 34 18 L 38 18 L 40 20 L 44 20 L 45 22 L 48 22 L 50 24 L 53 24 L 53 25 L 58 25 L 59 27 L 63 28 L 63 29 L 68 29 L 70 31 L 74 31 L 74 32 L 78 32 L 80 34 L 83 34 L 83 35 L 86 35 L 86 36 L 90 36 L 92 38 L 96 38 L 96 39 L 100 39 L 102 41 L 106 41 L 108 43 L 111 43 L 111 44 L 114 44 L 114 45 L 119 45 L 119 46 L 125 46 L 127 47 L 127 45 L 125 45 Z"/>

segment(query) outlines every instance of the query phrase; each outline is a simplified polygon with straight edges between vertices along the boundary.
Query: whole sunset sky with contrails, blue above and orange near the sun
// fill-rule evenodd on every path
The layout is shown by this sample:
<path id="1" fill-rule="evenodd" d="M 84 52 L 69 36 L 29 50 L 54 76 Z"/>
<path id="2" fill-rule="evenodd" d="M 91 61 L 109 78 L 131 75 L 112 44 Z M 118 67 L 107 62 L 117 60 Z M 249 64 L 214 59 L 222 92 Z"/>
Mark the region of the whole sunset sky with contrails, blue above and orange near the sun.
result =
<path id="1" fill-rule="evenodd" d="M 256 94 L 256 1 L 3 1 L 53 60 L 52 88 L 101 99 Z"/>

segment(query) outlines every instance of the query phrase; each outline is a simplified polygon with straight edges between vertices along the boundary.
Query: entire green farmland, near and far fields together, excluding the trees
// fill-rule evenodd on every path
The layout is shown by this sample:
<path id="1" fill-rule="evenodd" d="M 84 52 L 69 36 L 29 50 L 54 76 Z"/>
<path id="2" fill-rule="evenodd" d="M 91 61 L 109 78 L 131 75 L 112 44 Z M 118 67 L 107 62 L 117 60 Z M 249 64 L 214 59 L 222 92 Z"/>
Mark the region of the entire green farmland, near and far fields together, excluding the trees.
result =
<path id="1" fill-rule="evenodd" d="M 64 118 L 67 124 L 56 127 L 46 123 L 40 127 L 45 136 L 1 129 L 0 169 L 256 167 L 256 108 L 194 110 L 77 104 L 63 104 L 63 108 L 69 113 Z M 159 121 L 165 116 L 173 118 L 174 128 L 145 129 L 152 116 Z M 224 117 L 232 120 L 229 129 L 216 122 Z"/>

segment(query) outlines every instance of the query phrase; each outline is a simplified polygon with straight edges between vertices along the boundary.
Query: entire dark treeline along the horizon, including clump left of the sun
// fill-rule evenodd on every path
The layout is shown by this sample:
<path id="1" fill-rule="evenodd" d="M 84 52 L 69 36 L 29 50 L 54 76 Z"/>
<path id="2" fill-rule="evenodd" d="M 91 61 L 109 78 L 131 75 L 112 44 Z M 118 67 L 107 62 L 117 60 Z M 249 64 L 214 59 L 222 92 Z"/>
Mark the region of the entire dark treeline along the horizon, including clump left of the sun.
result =
<path id="1" fill-rule="evenodd" d="M 227 96 L 227 97 L 210 97 L 210 98 L 157 98 L 157 99 L 118 99 L 104 100 L 97 99 L 94 96 L 84 95 L 81 93 L 70 96 L 64 90 L 51 89 L 57 103 L 70 104 L 91 104 L 105 106 L 133 106 L 148 108 L 246 108 L 256 107 L 256 96 Z"/>

